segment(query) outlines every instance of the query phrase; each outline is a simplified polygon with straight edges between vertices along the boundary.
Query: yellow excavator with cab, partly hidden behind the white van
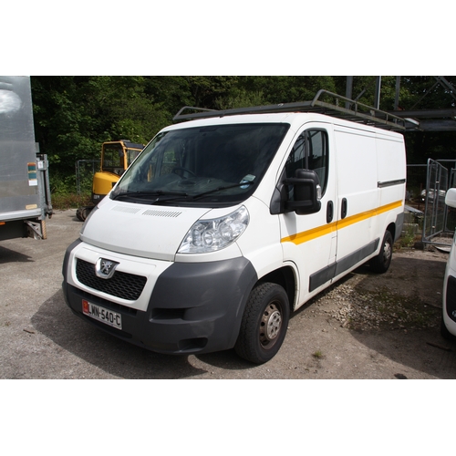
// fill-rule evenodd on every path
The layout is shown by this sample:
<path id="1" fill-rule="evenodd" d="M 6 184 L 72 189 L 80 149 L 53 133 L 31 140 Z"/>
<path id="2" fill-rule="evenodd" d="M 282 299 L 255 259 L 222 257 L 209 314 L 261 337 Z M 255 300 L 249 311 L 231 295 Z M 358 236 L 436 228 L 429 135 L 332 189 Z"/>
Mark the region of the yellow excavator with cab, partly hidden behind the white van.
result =
<path id="1" fill-rule="evenodd" d="M 103 142 L 100 168 L 93 176 L 93 205 L 78 208 L 76 215 L 80 221 L 86 220 L 88 213 L 110 192 L 115 183 L 119 181 L 120 176 L 143 149 L 144 144 L 137 144 L 130 140 Z"/>

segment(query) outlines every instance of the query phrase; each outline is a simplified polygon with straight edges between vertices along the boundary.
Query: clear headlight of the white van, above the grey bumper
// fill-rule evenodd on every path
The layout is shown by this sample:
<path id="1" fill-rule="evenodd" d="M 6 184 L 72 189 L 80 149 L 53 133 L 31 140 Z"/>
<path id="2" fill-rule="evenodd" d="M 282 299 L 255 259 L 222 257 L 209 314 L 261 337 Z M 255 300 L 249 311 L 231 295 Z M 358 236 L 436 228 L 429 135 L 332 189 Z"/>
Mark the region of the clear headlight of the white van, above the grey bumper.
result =
<path id="1" fill-rule="evenodd" d="M 183 238 L 178 254 L 207 254 L 224 249 L 244 233 L 249 212 L 244 206 L 211 220 L 199 220 Z"/>

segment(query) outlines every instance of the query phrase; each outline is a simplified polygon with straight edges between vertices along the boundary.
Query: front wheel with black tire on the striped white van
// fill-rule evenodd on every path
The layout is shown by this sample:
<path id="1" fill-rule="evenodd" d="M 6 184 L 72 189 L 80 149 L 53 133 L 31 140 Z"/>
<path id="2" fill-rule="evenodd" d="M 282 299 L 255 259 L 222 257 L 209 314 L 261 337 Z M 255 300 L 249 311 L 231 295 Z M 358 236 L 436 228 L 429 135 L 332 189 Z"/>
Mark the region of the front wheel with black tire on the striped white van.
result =
<path id="1" fill-rule="evenodd" d="M 275 357 L 285 339 L 290 305 L 282 286 L 255 286 L 245 306 L 234 349 L 244 359 L 263 364 Z"/>

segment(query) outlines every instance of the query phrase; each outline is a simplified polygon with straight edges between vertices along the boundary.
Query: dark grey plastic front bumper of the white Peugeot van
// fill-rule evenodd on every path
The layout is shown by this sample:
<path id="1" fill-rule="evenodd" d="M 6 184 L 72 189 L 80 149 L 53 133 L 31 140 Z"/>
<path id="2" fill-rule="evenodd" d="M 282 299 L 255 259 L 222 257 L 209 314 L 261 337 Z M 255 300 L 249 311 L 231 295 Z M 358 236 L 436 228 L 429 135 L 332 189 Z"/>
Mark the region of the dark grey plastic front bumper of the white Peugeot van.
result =
<path id="1" fill-rule="evenodd" d="M 211 263 L 168 263 L 153 278 L 151 292 L 147 284 L 144 287 L 139 301 L 147 300 L 147 306 L 140 306 L 122 304 L 119 298 L 78 285 L 74 278 L 68 280 L 75 271 L 71 254 L 75 248 L 78 242 L 67 249 L 62 287 L 67 305 L 88 323 L 160 353 L 208 353 L 234 346 L 245 303 L 257 280 L 254 266 L 244 257 Z M 84 315 L 83 299 L 121 314 L 122 329 Z"/>

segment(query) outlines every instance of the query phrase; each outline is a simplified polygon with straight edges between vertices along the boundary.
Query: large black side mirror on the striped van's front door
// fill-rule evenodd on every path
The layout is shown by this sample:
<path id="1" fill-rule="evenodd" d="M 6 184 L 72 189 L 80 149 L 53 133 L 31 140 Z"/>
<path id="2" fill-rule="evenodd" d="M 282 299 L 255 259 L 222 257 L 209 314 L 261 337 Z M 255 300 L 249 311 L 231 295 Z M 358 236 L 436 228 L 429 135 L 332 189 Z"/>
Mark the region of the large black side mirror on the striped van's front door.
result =
<path id="1" fill-rule="evenodd" d="M 284 183 L 295 187 L 294 201 L 285 202 L 285 209 L 295 211 L 298 215 L 320 210 L 321 188 L 316 171 L 296 170 L 295 177 L 285 179 Z"/>

